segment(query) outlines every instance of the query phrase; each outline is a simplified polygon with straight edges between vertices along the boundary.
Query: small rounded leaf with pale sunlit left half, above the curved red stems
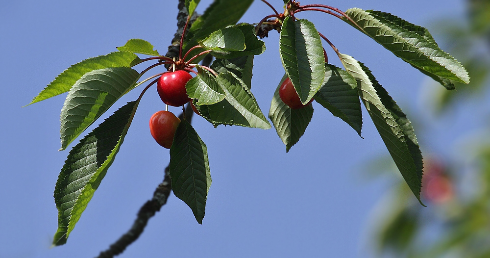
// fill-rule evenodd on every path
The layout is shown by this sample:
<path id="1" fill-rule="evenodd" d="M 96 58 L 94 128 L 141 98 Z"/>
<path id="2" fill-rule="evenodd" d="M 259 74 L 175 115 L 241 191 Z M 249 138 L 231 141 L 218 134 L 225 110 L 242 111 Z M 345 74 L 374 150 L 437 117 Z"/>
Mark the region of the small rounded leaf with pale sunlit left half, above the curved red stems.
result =
<path id="1" fill-rule="evenodd" d="M 226 27 L 214 31 L 199 45 L 204 49 L 215 51 L 244 51 L 245 36 L 238 28 Z"/>

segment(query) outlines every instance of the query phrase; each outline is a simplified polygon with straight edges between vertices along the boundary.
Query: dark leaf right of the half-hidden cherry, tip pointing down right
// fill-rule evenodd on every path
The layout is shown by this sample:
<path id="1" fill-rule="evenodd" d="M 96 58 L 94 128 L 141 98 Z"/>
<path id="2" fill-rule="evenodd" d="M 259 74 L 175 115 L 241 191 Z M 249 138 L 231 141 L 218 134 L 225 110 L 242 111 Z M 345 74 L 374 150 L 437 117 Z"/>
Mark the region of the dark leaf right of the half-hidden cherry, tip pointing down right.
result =
<path id="1" fill-rule="evenodd" d="M 315 101 L 334 116 L 340 117 L 361 136 L 363 116 L 357 81 L 349 73 L 334 65 L 325 64 L 325 79 L 315 94 Z"/>

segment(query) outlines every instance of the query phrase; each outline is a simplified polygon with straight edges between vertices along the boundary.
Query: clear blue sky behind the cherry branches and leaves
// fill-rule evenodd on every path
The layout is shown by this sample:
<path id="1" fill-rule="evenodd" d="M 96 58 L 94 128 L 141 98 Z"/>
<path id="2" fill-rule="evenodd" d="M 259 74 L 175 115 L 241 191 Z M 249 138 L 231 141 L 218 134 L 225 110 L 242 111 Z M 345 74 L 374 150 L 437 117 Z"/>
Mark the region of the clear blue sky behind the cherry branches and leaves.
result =
<path id="1" fill-rule="evenodd" d="M 154 142 L 148 129 L 151 114 L 165 108 L 155 89 L 143 98 L 121 151 L 68 243 L 49 249 L 57 227 L 53 189 L 68 155 L 57 151 L 64 97 L 21 106 L 70 65 L 116 51 L 128 39 L 145 39 L 165 53 L 176 29 L 176 2 L 0 3 L 0 258 L 95 257 L 129 228 L 152 196 L 169 162 L 169 151 Z M 209 2 L 202 0 L 198 11 Z M 270 2 L 278 9 L 282 6 L 281 0 Z M 302 4 L 315 2 L 327 3 Z M 438 29 L 430 26 L 434 18 L 461 17 L 464 11 L 462 0 L 328 4 L 391 12 L 433 30 Z M 242 21 L 256 23 L 270 13 L 256 0 Z M 418 112 L 425 76 L 333 16 L 303 12 L 297 17 L 314 22 L 341 52 L 364 62 L 406 113 Z M 278 38 L 270 32 L 264 39 L 267 51 L 255 58 L 252 92 L 265 114 L 284 74 Z M 334 52 L 325 49 L 331 62 L 340 66 Z M 124 96 L 107 114 L 135 100 L 139 92 Z M 305 135 L 288 154 L 274 129 L 214 129 L 196 117 L 193 125 L 208 147 L 213 178 L 203 225 L 172 195 L 120 257 L 369 257 L 368 215 L 391 181 L 366 182 L 363 164 L 388 152 L 367 113 L 361 139 L 318 103 L 314 108 Z M 430 143 L 422 149 L 444 149 L 443 141 L 425 141 Z"/>

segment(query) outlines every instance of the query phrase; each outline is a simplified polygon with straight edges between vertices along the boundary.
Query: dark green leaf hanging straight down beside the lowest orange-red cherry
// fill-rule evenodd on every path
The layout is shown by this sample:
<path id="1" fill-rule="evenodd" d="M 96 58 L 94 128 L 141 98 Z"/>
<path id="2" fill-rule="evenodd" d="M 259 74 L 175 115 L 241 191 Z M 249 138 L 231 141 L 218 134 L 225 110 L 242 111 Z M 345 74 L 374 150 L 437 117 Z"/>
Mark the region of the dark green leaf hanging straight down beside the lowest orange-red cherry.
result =
<path id="1" fill-rule="evenodd" d="M 170 148 L 172 190 L 184 201 L 202 224 L 206 197 L 211 185 L 208 151 L 186 120 L 180 122 Z"/>

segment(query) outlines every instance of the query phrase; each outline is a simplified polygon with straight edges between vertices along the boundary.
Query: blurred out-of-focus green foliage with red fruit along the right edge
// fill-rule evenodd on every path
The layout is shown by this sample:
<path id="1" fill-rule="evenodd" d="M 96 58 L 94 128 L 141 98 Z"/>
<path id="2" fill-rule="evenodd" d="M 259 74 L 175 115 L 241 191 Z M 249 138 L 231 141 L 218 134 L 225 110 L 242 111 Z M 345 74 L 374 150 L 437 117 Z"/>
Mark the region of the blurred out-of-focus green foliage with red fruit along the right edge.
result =
<path id="1" fill-rule="evenodd" d="M 490 86 L 490 1 L 468 0 L 467 6 L 466 21 L 443 20 L 438 27 L 446 50 L 459 57 L 471 83 L 436 92 L 436 111 L 487 102 L 481 96 L 488 96 Z M 490 110 L 484 114 L 489 117 Z M 428 207 L 408 200 L 410 189 L 402 181 L 392 189 L 371 232 L 376 257 L 490 257 L 490 125 L 482 131 L 476 144 L 459 150 L 466 162 L 441 155 L 424 159 L 422 201 Z"/>

